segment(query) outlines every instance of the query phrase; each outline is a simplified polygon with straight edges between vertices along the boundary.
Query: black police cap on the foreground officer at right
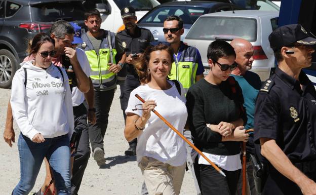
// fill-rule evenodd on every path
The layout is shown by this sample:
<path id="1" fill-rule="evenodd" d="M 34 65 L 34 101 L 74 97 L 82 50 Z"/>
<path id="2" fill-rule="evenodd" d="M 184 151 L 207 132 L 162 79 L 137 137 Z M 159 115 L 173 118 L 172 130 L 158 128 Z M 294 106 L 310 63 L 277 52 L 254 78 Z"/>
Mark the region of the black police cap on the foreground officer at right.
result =
<path id="1" fill-rule="evenodd" d="M 300 24 L 289 24 L 271 32 L 269 42 L 272 50 L 277 51 L 282 47 L 291 46 L 294 43 L 314 45 L 316 44 L 316 37 L 311 32 L 307 32 Z"/>

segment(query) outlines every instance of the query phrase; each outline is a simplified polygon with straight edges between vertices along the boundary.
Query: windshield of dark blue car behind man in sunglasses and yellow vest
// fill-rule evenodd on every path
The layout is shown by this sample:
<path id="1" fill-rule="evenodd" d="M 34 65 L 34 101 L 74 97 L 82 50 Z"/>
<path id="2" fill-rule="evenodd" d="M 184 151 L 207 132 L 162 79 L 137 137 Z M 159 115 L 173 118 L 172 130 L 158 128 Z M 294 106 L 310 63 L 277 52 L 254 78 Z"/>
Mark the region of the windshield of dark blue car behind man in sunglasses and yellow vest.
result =
<path id="1" fill-rule="evenodd" d="M 201 15 L 206 14 L 207 8 L 189 6 L 161 7 L 144 16 L 139 23 L 163 23 L 165 18 L 176 15 L 182 18 L 184 24 L 193 24 Z"/>

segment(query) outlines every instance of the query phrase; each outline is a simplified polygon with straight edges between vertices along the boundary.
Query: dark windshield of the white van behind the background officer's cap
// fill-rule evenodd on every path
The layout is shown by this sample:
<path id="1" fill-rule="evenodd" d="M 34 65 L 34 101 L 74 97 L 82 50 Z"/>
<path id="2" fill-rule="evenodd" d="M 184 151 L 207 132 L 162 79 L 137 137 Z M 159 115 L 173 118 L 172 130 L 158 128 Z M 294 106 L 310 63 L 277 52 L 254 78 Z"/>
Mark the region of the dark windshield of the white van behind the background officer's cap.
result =
<path id="1" fill-rule="evenodd" d="M 159 3 L 154 0 L 114 0 L 114 2 L 120 10 L 131 6 L 136 11 L 149 11 L 159 5 Z"/>

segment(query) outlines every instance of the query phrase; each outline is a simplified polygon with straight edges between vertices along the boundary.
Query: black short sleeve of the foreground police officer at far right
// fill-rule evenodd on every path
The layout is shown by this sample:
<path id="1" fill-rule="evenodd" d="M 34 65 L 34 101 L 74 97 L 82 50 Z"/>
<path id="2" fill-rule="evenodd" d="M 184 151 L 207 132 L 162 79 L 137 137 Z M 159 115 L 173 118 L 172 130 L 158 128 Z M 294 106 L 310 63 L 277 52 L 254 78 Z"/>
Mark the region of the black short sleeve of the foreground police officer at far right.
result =
<path id="1" fill-rule="evenodd" d="M 260 138 L 277 139 L 279 112 L 278 96 L 275 92 L 259 92 L 254 116 L 254 141 L 259 143 Z"/>

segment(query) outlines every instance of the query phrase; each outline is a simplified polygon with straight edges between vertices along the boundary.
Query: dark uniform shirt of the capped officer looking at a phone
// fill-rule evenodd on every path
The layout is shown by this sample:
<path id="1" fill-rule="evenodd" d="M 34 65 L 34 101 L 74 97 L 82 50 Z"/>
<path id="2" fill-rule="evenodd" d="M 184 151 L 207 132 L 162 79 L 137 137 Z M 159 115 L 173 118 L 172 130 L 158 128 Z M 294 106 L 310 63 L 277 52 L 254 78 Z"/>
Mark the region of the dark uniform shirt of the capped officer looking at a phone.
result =
<path id="1" fill-rule="evenodd" d="M 122 46 L 124 48 L 126 56 L 135 53 L 144 53 L 149 43 L 154 41 L 153 35 L 151 34 L 150 30 L 140 28 L 138 26 L 136 26 L 135 34 L 133 35 L 130 34 L 127 29 L 125 29 L 117 32 L 117 36 L 122 42 Z M 138 77 L 132 64 L 128 64 L 127 71 L 129 74 L 133 74 Z"/>

